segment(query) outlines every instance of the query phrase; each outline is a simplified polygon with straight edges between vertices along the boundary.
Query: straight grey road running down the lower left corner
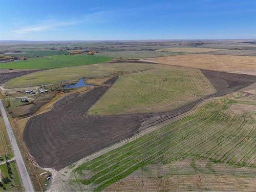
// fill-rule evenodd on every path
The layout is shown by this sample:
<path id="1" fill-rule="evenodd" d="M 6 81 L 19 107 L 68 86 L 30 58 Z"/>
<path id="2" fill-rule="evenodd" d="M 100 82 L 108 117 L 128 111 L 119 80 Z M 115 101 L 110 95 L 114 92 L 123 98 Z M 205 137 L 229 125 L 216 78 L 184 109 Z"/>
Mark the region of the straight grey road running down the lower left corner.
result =
<path id="1" fill-rule="evenodd" d="M 22 154 L 19 151 L 19 147 L 18 147 L 18 144 L 16 142 L 15 136 L 13 134 L 12 127 L 11 127 L 11 124 L 9 122 L 9 119 L 6 115 L 5 107 L 3 105 L 2 100 L 0 100 L 0 110 L 1 110 L 4 122 L 5 122 L 6 130 L 7 130 L 11 145 L 12 145 L 13 154 L 14 154 L 14 157 L 16 159 L 17 167 L 18 167 L 19 174 L 20 174 L 20 177 L 22 179 L 24 188 L 25 188 L 26 191 L 34 191 L 32 182 L 31 182 L 29 174 L 28 174 L 28 170 L 25 166 L 24 160 L 22 158 Z"/>

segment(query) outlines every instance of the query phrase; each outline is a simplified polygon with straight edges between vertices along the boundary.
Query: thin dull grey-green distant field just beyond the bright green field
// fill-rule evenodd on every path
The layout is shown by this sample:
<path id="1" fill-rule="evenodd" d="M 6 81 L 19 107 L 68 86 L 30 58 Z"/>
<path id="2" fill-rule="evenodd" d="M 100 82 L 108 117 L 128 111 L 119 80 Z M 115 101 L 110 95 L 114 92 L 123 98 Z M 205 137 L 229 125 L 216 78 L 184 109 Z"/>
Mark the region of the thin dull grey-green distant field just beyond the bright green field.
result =
<path id="1" fill-rule="evenodd" d="M 163 57 L 170 55 L 179 55 L 179 52 L 160 52 L 160 51 L 106 51 L 99 52 L 96 55 L 113 58 L 151 58 L 151 57 Z"/>

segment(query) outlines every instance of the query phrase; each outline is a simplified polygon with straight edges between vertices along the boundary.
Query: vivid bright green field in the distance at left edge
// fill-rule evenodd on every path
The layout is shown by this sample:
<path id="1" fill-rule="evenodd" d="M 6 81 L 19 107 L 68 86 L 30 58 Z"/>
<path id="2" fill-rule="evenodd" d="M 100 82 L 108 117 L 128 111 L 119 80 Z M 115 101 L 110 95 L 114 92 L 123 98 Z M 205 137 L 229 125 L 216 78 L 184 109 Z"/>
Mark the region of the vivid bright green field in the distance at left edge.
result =
<path id="1" fill-rule="evenodd" d="M 53 55 L 49 57 L 30 58 L 28 60 L 2 63 L 0 69 L 51 69 L 69 66 L 83 66 L 111 60 L 110 57 L 97 55 Z"/>

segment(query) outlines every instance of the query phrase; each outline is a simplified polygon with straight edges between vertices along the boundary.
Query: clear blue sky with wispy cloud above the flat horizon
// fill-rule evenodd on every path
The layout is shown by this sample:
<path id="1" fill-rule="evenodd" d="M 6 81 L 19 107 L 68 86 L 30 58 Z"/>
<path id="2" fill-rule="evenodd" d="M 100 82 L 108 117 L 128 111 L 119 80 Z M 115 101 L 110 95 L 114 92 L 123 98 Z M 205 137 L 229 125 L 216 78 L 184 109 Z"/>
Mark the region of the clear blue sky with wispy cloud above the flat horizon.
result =
<path id="1" fill-rule="evenodd" d="M 255 0 L 0 0 L 0 40 L 256 38 Z"/>

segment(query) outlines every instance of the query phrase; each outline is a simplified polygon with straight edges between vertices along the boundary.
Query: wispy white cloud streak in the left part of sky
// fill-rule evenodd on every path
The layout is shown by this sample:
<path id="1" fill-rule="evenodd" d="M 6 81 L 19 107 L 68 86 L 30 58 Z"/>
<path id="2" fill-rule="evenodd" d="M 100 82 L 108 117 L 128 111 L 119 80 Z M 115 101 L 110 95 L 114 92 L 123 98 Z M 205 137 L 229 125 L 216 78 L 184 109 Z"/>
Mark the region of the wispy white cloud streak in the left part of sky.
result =
<path id="1" fill-rule="evenodd" d="M 14 30 L 12 32 L 19 33 L 19 34 L 30 33 L 30 32 L 40 32 L 40 31 L 57 29 L 58 27 L 62 27 L 62 26 L 75 25 L 77 23 L 78 23 L 77 20 L 72 20 L 67 22 L 63 22 L 59 20 L 47 20 L 40 24 L 26 26 L 26 27 Z"/>

